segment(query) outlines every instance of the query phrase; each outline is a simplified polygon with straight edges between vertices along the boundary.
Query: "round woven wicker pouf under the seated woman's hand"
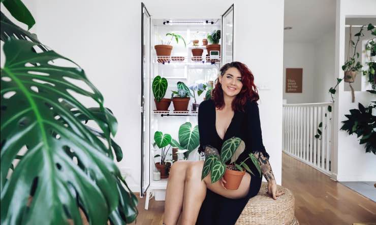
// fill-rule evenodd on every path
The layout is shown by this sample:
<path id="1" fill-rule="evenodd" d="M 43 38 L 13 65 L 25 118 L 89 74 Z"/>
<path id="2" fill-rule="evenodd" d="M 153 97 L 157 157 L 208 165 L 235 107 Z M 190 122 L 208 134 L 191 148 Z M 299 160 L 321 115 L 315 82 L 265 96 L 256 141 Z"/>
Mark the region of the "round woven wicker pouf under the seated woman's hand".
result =
<path id="1" fill-rule="evenodd" d="M 299 224 L 294 216 L 294 196 L 286 187 L 277 186 L 279 190 L 285 191 L 285 194 L 274 200 L 271 195 L 266 193 L 268 183 L 262 182 L 259 193 L 249 199 L 235 224 Z"/>

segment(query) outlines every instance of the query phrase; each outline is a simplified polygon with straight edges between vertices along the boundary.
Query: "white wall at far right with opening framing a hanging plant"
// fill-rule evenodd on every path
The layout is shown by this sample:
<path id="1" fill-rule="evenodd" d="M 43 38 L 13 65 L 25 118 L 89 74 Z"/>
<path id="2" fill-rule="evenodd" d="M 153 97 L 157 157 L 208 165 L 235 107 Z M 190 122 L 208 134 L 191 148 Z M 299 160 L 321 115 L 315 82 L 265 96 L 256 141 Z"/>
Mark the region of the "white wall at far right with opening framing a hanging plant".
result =
<path id="1" fill-rule="evenodd" d="M 336 36 L 335 36 L 335 74 L 342 78 L 341 65 L 344 63 L 345 19 L 346 17 L 375 17 L 376 1 L 374 0 L 337 0 L 336 9 Z M 367 105 L 374 100 L 374 95 L 368 92 L 355 92 L 354 103 L 351 103 L 351 92 L 344 91 L 344 84 L 338 87 L 334 111 L 338 112 L 334 120 L 334 158 L 333 169 L 339 181 L 375 181 L 376 158 L 371 153 L 365 153 L 364 145 L 359 145 L 356 136 L 349 136 L 340 131 L 341 121 L 347 120 L 344 116 L 349 110 L 357 108 L 357 102 Z"/>

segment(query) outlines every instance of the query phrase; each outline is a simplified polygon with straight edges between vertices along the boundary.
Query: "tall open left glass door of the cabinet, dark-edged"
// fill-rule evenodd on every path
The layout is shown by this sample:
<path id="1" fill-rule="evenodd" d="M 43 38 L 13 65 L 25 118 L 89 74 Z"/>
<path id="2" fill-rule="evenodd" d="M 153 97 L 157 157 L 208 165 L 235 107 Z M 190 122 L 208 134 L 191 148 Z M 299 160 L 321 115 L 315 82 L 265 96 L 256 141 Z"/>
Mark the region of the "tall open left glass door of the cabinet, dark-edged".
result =
<path id="1" fill-rule="evenodd" d="M 150 185 L 150 14 L 141 3 L 141 190 Z"/>

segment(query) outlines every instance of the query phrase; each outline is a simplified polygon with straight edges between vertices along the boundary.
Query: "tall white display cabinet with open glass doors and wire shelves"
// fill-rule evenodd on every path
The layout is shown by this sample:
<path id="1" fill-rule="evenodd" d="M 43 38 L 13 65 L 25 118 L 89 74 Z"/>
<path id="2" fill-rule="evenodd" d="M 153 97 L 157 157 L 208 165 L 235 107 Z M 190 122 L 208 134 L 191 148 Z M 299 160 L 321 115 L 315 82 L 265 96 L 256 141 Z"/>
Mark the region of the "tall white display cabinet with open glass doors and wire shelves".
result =
<path id="1" fill-rule="evenodd" d="M 153 147 L 154 132 L 162 131 L 178 139 L 178 130 L 181 124 L 190 122 L 197 125 L 197 111 L 192 111 L 194 99 L 191 98 L 189 111 L 174 111 L 173 104 L 168 111 L 154 111 L 156 109 L 151 84 L 156 76 L 162 76 L 168 81 L 166 98 L 171 97 L 171 91 L 177 89 L 177 82 L 184 82 L 187 86 L 197 83 L 215 81 L 221 65 L 233 61 L 234 40 L 234 5 L 224 9 L 224 14 L 218 18 L 183 19 L 179 18 L 152 18 L 145 5 L 141 3 L 141 189 L 140 197 L 146 194 L 145 209 L 148 208 L 149 199 L 154 196 L 156 201 L 164 201 L 168 178 L 158 181 L 153 180 L 154 155 L 161 150 Z M 181 9 L 183 10 L 183 9 Z M 221 55 L 212 58 L 206 57 L 206 47 L 202 39 L 213 30 L 221 30 Z M 182 61 L 172 61 L 172 58 L 156 56 L 154 45 L 161 43 L 161 37 L 167 40 L 166 33 L 174 32 L 181 35 L 186 47 L 181 40 L 173 46 L 171 57 L 181 57 Z M 192 57 L 192 40 L 199 40 L 199 47 L 203 49 L 202 60 Z M 165 44 L 165 43 L 164 43 Z M 214 53 L 214 52 L 213 52 Z M 214 59 L 216 58 L 216 59 Z M 219 58 L 219 59 L 218 59 Z M 197 103 L 204 100 L 205 94 L 196 96 Z M 171 149 L 170 152 L 172 153 Z M 170 156 L 167 159 L 171 159 Z M 158 160 L 158 158 L 157 158 Z M 188 160 L 200 160 L 197 149 L 193 151 Z M 158 161 L 155 161 L 158 162 Z"/>

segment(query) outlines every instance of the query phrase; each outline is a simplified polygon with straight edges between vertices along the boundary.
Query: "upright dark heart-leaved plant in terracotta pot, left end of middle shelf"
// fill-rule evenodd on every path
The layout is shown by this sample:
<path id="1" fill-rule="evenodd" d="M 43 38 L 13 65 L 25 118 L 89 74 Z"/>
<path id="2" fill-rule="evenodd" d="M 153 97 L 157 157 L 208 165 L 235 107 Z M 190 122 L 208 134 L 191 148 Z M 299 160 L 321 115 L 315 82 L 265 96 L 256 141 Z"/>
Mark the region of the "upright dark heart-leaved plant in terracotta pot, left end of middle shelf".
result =
<path id="1" fill-rule="evenodd" d="M 152 90 L 154 95 L 154 102 L 156 110 L 167 111 L 171 104 L 171 98 L 164 98 L 168 87 L 166 78 L 156 76 L 152 83 Z"/>

